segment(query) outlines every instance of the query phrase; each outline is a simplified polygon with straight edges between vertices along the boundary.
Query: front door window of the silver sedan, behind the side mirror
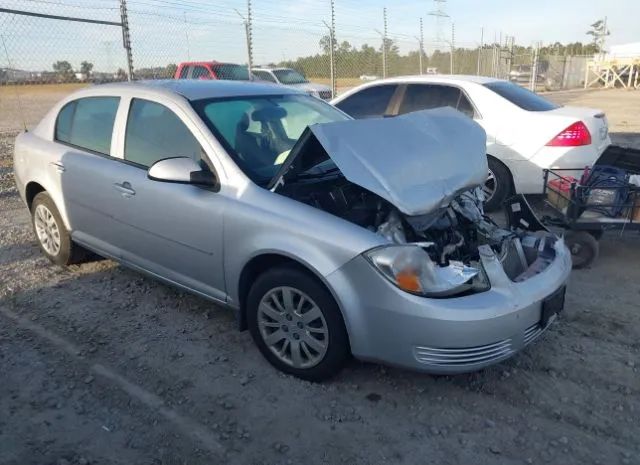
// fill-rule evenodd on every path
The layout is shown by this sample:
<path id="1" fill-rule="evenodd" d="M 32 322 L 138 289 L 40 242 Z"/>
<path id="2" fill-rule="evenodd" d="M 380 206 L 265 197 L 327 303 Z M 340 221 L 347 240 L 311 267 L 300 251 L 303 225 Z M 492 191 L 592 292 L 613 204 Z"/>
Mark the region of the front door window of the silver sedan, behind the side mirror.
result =
<path id="1" fill-rule="evenodd" d="M 202 147 L 173 111 L 142 99 L 131 101 L 124 144 L 124 159 L 144 167 L 173 157 L 199 162 L 202 156 Z"/>

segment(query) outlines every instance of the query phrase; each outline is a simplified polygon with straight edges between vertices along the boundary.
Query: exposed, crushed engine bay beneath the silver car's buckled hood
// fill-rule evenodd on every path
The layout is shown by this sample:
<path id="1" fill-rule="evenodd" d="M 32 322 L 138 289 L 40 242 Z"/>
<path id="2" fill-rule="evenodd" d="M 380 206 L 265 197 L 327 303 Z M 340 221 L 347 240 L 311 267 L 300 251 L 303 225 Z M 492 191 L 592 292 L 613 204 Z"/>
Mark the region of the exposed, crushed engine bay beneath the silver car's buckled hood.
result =
<path id="1" fill-rule="evenodd" d="M 362 226 L 390 242 L 423 248 L 440 278 L 459 281 L 470 290 L 488 288 L 480 260 L 482 246 L 493 250 L 514 282 L 540 273 L 555 258 L 555 235 L 529 231 L 525 222 L 509 230 L 499 227 L 483 212 L 480 188 L 463 192 L 448 207 L 419 216 L 403 214 L 339 173 L 298 178 L 281 186 L 279 193 Z"/>

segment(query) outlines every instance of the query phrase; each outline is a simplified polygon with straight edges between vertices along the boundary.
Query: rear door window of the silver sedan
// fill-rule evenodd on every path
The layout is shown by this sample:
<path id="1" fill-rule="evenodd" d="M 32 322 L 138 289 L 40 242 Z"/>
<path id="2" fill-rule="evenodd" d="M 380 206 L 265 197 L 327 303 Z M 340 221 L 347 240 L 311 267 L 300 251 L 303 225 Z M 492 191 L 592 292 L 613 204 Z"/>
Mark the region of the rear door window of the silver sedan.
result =
<path id="1" fill-rule="evenodd" d="M 109 155 L 119 97 L 85 97 L 68 103 L 58 114 L 55 139 Z"/>

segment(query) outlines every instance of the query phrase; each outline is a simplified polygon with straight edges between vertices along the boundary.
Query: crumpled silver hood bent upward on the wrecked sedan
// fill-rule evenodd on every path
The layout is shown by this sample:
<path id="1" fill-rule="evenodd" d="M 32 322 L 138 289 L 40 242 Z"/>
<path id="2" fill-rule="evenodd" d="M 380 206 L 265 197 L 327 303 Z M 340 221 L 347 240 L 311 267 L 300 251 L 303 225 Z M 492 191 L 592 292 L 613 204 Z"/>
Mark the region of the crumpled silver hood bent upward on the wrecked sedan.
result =
<path id="1" fill-rule="evenodd" d="M 452 108 L 309 127 L 342 174 L 414 216 L 484 184 L 486 134 Z"/>

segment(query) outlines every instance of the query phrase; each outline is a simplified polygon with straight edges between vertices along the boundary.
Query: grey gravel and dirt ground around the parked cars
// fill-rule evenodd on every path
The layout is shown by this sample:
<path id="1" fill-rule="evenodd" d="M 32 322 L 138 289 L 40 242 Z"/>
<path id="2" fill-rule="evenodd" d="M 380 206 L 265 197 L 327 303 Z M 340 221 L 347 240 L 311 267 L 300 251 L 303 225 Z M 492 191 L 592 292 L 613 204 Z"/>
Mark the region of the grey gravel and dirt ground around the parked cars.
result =
<path id="1" fill-rule="evenodd" d="M 30 121 L 59 93 L 24 96 Z M 614 139 L 640 147 L 640 92 L 552 98 L 604 109 Z M 0 464 L 640 464 L 640 235 L 606 234 L 560 321 L 498 366 L 353 361 L 312 384 L 202 299 L 107 260 L 51 265 L 12 142 L 0 134 Z"/>

